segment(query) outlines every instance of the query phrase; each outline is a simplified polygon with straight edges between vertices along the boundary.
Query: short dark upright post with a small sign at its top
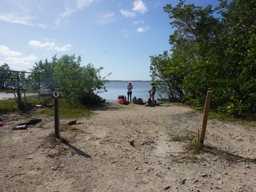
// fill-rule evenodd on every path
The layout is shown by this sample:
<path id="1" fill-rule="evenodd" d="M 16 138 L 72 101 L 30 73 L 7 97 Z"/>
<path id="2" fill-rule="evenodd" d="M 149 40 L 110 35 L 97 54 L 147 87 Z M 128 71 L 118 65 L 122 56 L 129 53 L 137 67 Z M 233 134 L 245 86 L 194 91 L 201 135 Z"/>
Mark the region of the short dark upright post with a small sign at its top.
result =
<path id="1" fill-rule="evenodd" d="M 54 99 L 54 124 L 55 124 L 55 137 L 60 137 L 60 107 L 59 99 L 61 98 L 59 89 L 54 89 L 52 92 L 52 99 Z"/>

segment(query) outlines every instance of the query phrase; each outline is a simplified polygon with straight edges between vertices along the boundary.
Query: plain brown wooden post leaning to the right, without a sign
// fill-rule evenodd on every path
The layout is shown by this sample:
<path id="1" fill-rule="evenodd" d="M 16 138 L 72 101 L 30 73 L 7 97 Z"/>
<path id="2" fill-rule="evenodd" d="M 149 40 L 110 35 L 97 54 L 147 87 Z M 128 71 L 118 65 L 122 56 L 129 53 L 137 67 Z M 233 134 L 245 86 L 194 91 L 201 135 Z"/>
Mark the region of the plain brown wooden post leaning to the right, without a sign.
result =
<path id="1" fill-rule="evenodd" d="M 201 145 L 204 145 L 204 136 L 206 131 L 209 110 L 210 110 L 211 99 L 212 99 L 212 91 L 207 91 L 205 107 L 204 107 L 204 117 L 203 117 L 203 123 L 202 123 L 201 135 L 200 135 Z"/>

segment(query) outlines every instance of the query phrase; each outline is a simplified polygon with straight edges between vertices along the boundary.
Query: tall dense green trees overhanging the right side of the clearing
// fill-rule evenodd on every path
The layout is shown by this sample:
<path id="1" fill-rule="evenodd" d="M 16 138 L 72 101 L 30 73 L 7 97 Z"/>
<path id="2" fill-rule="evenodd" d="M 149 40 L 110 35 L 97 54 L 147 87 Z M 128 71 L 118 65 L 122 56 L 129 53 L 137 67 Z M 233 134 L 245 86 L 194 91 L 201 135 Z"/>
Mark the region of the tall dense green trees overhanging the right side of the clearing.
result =
<path id="1" fill-rule="evenodd" d="M 214 10 L 180 0 L 175 7 L 164 6 L 164 12 L 175 31 L 169 38 L 171 55 L 150 57 L 151 78 L 163 82 L 160 91 L 180 89 L 183 99 L 200 107 L 211 90 L 212 108 L 233 116 L 255 113 L 255 1 L 220 0 Z"/>

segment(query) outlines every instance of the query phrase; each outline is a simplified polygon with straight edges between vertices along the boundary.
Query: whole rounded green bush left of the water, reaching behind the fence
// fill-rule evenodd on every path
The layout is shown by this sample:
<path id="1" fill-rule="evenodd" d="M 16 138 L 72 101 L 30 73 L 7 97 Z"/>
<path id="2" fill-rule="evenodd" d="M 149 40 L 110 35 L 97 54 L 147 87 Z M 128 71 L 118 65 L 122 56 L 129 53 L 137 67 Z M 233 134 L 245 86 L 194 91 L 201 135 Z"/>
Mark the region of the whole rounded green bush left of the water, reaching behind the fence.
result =
<path id="1" fill-rule="evenodd" d="M 91 63 L 81 66 L 81 57 L 74 55 L 63 55 L 57 59 L 57 55 L 52 57 L 52 61 L 47 59 L 35 63 L 33 69 L 35 74 L 29 75 L 31 89 L 60 89 L 63 101 L 67 103 L 100 103 L 101 98 L 98 93 L 105 92 L 104 86 L 108 80 L 100 76 L 103 68 L 95 68 Z M 108 74 L 107 76 L 109 76 Z M 35 82 L 38 82 L 39 85 Z"/>

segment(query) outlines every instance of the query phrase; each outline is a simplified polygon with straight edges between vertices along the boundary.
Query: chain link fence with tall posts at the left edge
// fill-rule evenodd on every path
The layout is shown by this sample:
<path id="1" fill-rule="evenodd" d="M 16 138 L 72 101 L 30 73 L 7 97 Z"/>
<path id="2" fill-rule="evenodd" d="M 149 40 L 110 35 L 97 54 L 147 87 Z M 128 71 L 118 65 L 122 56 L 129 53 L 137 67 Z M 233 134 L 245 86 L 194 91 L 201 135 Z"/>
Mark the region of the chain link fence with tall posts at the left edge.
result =
<path id="1" fill-rule="evenodd" d="M 51 91 L 57 87 L 51 74 L 0 70 L 0 77 L 0 114 L 49 104 Z"/>

